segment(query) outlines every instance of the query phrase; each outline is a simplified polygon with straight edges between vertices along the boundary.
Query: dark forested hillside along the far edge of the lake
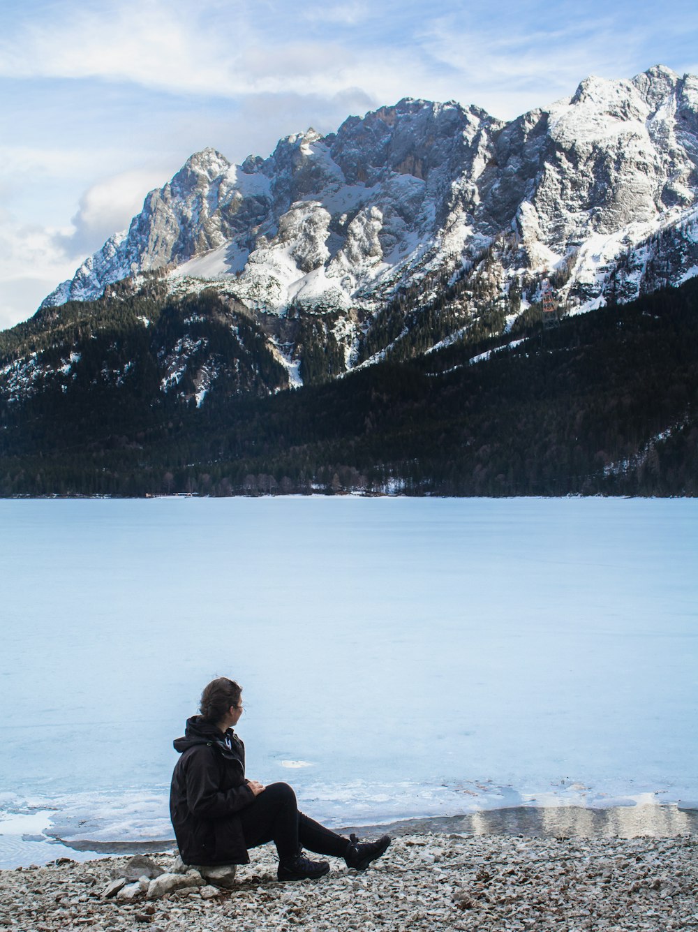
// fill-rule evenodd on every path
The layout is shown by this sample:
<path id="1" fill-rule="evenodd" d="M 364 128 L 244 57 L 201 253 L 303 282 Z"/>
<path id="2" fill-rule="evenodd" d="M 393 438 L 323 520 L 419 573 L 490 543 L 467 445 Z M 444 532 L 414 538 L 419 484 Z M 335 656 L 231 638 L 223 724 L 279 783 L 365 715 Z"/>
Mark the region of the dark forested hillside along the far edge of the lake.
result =
<path id="1" fill-rule="evenodd" d="M 696 280 L 297 390 L 258 324 L 218 300 L 155 289 L 0 335 L 6 386 L 13 365 L 23 380 L 0 403 L 0 494 L 698 491 Z M 195 367 L 177 366 L 183 334 Z M 216 367 L 216 391 L 181 391 Z M 168 373 L 177 391 L 161 391 Z"/>

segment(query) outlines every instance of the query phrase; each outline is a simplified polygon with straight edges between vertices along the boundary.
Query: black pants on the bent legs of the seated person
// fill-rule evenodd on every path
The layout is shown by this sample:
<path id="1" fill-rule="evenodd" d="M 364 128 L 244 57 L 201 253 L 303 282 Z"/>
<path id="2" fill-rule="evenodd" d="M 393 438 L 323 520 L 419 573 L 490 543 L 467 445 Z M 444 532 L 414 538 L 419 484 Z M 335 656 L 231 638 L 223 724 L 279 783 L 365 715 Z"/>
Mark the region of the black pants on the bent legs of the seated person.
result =
<path id="1" fill-rule="evenodd" d="M 295 857 L 299 847 L 318 855 L 346 854 L 348 839 L 299 813 L 294 790 L 287 783 L 270 784 L 238 815 L 247 847 L 273 842 L 280 861 Z"/>

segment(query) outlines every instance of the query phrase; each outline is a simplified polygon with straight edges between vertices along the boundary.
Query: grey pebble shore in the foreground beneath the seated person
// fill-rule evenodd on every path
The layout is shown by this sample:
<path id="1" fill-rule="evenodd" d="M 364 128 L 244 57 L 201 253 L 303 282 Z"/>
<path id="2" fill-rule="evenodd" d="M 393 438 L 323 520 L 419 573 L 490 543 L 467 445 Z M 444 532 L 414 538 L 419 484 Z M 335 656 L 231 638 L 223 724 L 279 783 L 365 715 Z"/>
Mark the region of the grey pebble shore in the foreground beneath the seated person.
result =
<path id="1" fill-rule="evenodd" d="M 128 857 L 0 871 L 0 930 L 529 930 L 698 927 L 695 836 L 524 838 L 404 835 L 361 873 L 332 859 L 319 881 L 280 884 L 273 847 L 252 852 L 232 889 L 105 898 Z M 165 873 L 170 854 L 154 855 Z M 147 887 L 147 884 L 144 884 Z"/>

